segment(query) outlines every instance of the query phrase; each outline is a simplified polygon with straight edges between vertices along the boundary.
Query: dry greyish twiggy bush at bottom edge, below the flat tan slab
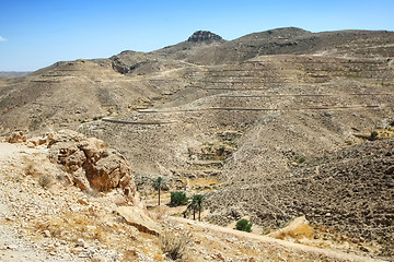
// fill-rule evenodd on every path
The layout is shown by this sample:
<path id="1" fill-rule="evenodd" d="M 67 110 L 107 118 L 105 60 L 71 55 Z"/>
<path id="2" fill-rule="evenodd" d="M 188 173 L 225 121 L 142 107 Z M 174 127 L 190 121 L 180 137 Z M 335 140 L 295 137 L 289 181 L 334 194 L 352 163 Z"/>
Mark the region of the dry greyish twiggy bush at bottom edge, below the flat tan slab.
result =
<path id="1" fill-rule="evenodd" d="M 192 261 L 188 246 L 192 243 L 192 234 L 189 231 L 174 233 L 165 229 L 159 237 L 160 249 L 163 253 L 178 261 Z"/>

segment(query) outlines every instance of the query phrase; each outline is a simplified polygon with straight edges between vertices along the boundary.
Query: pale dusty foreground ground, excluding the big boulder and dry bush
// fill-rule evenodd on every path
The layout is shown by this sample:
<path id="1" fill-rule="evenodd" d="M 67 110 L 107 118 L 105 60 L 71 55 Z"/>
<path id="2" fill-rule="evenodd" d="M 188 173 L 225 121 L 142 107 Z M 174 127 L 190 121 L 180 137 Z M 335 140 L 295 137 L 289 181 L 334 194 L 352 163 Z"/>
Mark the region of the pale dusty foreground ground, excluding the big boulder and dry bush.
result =
<path id="1" fill-rule="evenodd" d="M 0 144 L 2 261 L 169 261 L 160 238 L 139 233 L 112 212 L 116 192 L 86 195 L 78 188 L 62 186 L 61 170 L 48 162 L 46 151 Z M 46 175 L 56 176 L 45 183 L 40 178 Z M 159 211 L 152 216 L 163 228 L 189 231 L 187 261 L 372 261 L 169 217 L 166 211 Z"/>

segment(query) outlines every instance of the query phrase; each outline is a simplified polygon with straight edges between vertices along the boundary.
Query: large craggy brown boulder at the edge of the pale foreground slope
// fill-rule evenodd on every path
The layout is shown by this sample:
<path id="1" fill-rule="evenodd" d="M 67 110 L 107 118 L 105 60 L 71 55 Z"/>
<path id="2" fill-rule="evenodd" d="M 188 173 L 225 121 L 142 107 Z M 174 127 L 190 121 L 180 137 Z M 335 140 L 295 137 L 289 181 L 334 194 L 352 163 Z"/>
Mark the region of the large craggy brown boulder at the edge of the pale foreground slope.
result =
<path id="1" fill-rule="evenodd" d="M 95 138 L 62 130 L 48 136 L 49 158 L 70 174 L 81 190 L 108 192 L 123 189 L 128 200 L 138 198 L 131 168 L 126 158 Z"/>

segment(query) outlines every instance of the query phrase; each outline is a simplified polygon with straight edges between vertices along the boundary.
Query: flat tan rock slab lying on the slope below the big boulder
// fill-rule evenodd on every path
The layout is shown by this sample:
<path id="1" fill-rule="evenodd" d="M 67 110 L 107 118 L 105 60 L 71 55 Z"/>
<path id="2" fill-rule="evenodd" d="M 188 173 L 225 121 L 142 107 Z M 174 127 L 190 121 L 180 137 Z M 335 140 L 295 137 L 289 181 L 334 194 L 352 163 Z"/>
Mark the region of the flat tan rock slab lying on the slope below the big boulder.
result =
<path id="1" fill-rule="evenodd" d="M 136 227 L 139 231 L 155 236 L 160 235 L 160 225 L 150 218 L 143 210 L 135 206 L 118 206 L 115 212 L 121 216 L 128 225 Z"/>

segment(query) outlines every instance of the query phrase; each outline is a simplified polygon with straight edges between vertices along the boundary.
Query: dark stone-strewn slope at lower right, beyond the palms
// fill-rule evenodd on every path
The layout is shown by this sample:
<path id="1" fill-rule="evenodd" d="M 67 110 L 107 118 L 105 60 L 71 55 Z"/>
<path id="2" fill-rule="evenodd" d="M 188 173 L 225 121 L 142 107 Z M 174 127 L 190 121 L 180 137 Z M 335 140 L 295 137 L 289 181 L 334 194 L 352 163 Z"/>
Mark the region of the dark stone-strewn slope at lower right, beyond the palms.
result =
<path id="1" fill-rule="evenodd" d="M 250 215 L 267 228 L 305 215 L 354 238 L 393 250 L 394 140 L 350 146 L 294 166 L 280 180 L 237 183 L 210 195 L 210 219 Z M 223 206 L 227 206 L 223 209 Z"/>

